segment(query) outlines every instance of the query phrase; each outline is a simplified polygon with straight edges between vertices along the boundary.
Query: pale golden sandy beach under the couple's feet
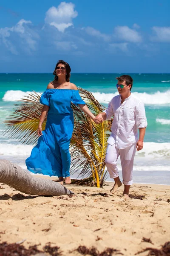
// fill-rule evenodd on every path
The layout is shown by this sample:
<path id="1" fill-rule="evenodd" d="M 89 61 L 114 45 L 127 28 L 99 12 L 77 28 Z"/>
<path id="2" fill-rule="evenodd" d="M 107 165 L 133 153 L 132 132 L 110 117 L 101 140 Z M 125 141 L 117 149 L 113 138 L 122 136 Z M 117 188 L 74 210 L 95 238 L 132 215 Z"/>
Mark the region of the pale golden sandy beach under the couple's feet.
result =
<path id="1" fill-rule="evenodd" d="M 110 247 L 133 256 L 170 241 L 170 186 L 133 184 L 134 198 L 128 200 L 122 197 L 123 186 L 115 195 L 112 186 L 67 185 L 75 195 L 37 197 L 0 183 L 0 242 L 25 239 L 26 248 L 39 244 L 40 250 L 51 242 L 71 256 L 81 255 L 75 250 L 80 245 L 99 252 Z"/>

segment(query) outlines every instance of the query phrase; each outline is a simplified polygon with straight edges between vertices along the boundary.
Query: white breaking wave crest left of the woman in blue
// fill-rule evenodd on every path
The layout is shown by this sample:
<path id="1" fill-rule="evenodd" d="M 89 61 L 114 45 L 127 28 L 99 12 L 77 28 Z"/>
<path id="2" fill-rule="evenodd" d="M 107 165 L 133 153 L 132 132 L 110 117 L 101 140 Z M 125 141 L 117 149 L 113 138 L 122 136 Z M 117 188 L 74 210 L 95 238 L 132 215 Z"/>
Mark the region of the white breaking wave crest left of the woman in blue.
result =
<path id="1" fill-rule="evenodd" d="M 14 101 L 25 98 L 25 96 L 27 96 L 27 93 L 32 93 L 32 92 L 29 92 L 29 91 L 23 92 L 21 90 L 8 90 L 3 96 L 3 100 L 14 102 Z"/>

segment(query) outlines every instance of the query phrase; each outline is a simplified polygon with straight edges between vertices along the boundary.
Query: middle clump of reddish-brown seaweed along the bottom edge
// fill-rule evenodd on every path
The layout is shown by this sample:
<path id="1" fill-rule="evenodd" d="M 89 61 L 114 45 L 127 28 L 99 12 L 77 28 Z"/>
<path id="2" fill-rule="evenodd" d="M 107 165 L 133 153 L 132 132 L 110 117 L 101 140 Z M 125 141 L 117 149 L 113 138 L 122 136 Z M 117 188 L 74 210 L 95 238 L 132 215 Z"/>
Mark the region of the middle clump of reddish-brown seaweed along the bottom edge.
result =
<path id="1" fill-rule="evenodd" d="M 81 253 L 82 255 L 92 255 L 92 256 L 112 256 L 113 254 L 121 254 L 123 255 L 123 253 L 121 253 L 119 250 L 113 249 L 113 248 L 106 248 L 103 252 L 99 253 L 99 251 L 97 250 L 96 247 L 91 247 L 91 248 L 87 248 L 84 245 L 80 245 L 77 249 L 73 250 L 74 251 L 78 251 L 79 253 Z M 70 253 L 72 253 L 70 252 Z"/>

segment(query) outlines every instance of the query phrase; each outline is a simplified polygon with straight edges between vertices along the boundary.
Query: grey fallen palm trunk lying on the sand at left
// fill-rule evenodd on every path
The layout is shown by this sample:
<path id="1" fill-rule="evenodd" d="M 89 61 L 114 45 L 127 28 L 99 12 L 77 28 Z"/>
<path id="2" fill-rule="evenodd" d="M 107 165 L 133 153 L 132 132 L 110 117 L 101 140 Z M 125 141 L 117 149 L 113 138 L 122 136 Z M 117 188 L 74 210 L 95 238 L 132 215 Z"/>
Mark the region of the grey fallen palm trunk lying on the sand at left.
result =
<path id="1" fill-rule="evenodd" d="M 70 195 L 74 194 L 60 183 L 38 178 L 20 166 L 7 160 L 0 160 L 0 182 L 28 195 Z"/>

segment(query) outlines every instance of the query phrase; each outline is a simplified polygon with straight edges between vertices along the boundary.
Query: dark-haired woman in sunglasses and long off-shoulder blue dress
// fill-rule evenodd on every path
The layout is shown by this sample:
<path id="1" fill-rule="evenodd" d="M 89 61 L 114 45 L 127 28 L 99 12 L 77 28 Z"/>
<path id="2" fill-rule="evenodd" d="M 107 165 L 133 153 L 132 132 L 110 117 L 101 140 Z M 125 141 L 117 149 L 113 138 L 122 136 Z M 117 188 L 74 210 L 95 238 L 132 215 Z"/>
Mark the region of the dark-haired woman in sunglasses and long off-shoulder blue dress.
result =
<path id="1" fill-rule="evenodd" d="M 59 182 L 71 183 L 69 144 L 74 128 L 74 116 L 71 102 L 79 107 L 91 119 L 95 116 L 79 96 L 75 84 L 70 83 L 71 68 L 65 61 L 59 60 L 54 70 L 54 81 L 50 82 L 40 98 L 43 104 L 40 117 L 37 145 L 31 156 L 26 159 L 27 169 L 33 173 L 58 176 Z M 48 114 L 48 116 L 47 116 Z M 45 130 L 42 123 L 47 116 Z"/>

